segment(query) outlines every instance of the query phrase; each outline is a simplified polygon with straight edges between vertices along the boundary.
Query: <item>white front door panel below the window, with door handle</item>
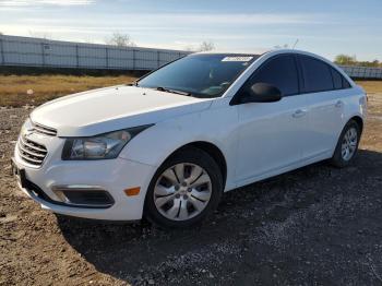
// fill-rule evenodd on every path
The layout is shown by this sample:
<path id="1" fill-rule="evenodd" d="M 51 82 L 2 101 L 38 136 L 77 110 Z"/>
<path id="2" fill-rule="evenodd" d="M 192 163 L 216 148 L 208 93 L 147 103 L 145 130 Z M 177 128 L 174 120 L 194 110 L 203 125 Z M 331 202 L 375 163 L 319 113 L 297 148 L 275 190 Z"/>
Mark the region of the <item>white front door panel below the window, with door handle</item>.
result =
<path id="1" fill-rule="evenodd" d="M 309 119 L 305 96 L 236 106 L 239 114 L 237 179 L 289 166 L 302 157 Z"/>

